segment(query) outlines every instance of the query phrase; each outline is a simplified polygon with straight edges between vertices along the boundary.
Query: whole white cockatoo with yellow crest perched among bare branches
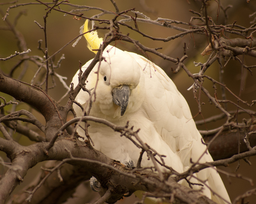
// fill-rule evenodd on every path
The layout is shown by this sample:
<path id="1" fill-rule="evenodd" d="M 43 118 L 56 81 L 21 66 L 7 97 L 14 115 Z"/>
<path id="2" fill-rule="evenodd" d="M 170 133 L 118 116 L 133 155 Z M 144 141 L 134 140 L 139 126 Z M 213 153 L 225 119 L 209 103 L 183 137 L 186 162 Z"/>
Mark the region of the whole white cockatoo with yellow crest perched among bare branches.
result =
<path id="1" fill-rule="evenodd" d="M 87 31 L 88 21 L 84 25 L 84 32 Z M 102 43 L 97 32 L 84 34 L 84 37 L 90 50 L 98 49 Z M 90 115 L 106 119 L 117 126 L 125 126 L 129 121 L 129 125 L 134 126 L 134 129 L 140 128 L 139 137 L 143 142 L 166 156 L 163 157 L 166 165 L 180 173 L 188 170 L 191 166 L 190 159 L 193 162 L 198 161 L 206 146 L 202 143 L 202 137 L 185 98 L 172 80 L 160 67 L 141 55 L 122 51 L 110 45 L 102 55 L 104 60 L 100 67 L 98 62 L 86 82 L 86 88 L 94 88 L 92 92 L 95 91 Z M 82 71 L 91 62 L 92 60 L 88 61 L 82 67 Z M 74 86 L 78 84 L 78 73 L 79 70 L 72 81 Z M 88 92 L 81 90 L 76 101 L 87 109 Z M 79 106 L 74 104 L 73 107 L 77 116 L 84 115 Z M 84 136 L 81 128 L 78 128 L 77 132 Z M 103 124 L 91 121 L 88 132 L 95 149 L 112 159 L 133 163 L 136 166 L 141 149 L 129 139 L 121 137 L 118 132 Z M 152 161 L 144 156 L 141 166 L 153 166 Z M 200 163 L 211 161 L 213 160 L 208 152 L 199 159 Z M 204 195 L 217 203 L 230 203 L 228 193 L 215 168 L 204 169 L 194 176 L 200 181 L 191 178 L 191 182 L 204 182 Z M 180 183 L 187 185 L 186 181 Z M 201 188 L 202 186 L 193 186 L 193 189 Z"/>

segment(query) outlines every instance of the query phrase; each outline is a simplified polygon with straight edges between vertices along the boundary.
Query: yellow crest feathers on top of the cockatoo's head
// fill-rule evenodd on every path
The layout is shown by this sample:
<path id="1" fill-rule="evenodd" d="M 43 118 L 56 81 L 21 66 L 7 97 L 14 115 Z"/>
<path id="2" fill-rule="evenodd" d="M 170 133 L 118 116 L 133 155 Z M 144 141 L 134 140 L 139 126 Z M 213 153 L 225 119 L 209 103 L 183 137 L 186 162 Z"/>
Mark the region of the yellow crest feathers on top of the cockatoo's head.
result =
<path id="1" fill-rule="evenodd" d="M 88 19 L 84 22 L 84 33 L 88 32 L 90 29 L 88 28 Z M 89 50 L 97 54 L 98 51 L 94 49 L 99 49 L 100 45 L 103 42 L 102 38 L 99 38 L 97 31 L 92 31 L 84 34 L 84 37 L 87 41 L 87 47 Z"/>

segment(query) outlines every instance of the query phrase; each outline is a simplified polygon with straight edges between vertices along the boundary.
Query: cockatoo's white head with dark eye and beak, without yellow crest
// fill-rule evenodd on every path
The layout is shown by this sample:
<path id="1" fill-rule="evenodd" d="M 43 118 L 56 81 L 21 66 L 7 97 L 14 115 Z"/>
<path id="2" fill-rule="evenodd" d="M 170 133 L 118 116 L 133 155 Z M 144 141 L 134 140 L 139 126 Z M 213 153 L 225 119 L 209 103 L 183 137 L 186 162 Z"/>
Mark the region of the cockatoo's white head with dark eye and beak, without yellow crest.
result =
<path id="1" fill-rule="evenodd" d="M 105 60 L 100 65 L 97 92 L 101 95 L 110 96 L 111 94 L 113 108 L 117 109 L 116 106 L 120 106 L 120 114 L 123 116 L 129 104 L 129 98 L 131 103 L 135 100 L 134 92 L 137 92 L 140 83 L 139 64 L 132 56 L 112 46 L 107 47 L 107 52 L 103 53 L 103 57 Z M 101 102 L 104 103 L 104 101 Z"/>

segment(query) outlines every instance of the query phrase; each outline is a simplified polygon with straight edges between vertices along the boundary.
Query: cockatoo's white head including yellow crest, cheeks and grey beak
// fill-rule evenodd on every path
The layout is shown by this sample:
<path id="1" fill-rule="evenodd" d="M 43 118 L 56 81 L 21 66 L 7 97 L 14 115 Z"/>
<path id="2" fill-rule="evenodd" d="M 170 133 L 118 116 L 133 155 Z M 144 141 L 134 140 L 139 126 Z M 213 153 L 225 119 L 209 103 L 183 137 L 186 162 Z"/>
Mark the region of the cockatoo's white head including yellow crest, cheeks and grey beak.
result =
<path id="1" fill-rule="evenodd" d="M 97 31 L 88 31 L 88 20 L 86 20 L 83 32 L 87 47 L 97 53 L 94 49 L 99 49 L 103 40 L 98 37 Z M 139 64 L 127 52 L 110 45 L 102 56 L 104 60 L 96 64 L 87 83 L 87 87 L 95 87 L 94 112 L 96 113 L 98 108 L 105 116 L 119 118 L 125 112 L 136 111 L 136 107 L 140 106 L 142 101 L 136 94 L 142 92 L 139 84 L 144 83 L 140 78 Z M 100 113 L 97 116 L 101 117 Z"/>

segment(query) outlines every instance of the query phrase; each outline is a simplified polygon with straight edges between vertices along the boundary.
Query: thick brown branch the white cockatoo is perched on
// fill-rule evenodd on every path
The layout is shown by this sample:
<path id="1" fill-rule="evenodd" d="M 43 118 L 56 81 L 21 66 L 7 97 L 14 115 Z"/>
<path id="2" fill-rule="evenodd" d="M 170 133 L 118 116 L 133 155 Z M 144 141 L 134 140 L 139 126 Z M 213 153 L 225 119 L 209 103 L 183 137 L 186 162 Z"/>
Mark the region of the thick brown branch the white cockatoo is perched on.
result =
<path id="1" fill-rule="evenodd" d="M 87 158 L 84 160 L 78 159 L 78 161 L 74 159 L 74 161 L 71 161 L 70 163 L 79 166 L 86 172 L 91 172 L 99 181 L 101 181 L 103 187 L 108 188 L 112 186 L 115 189 L 114 198 L 117 200 L 121 199 L 123 194 L 127 192 L 132 193 L 136 190 L 154 192 L 156 188 L 158 188 L 162 189 L 159 193 L 169 193 L 170 196 L 175 191 L 174 197 L 184 203 L 214 203 L 205 196 L 202 196 L 201 193 L 191 191 L 188 187 L 181 186 L 174 181 L 170 181 L 170 183 L 163 186 L 163 183 L 157 178 L 157 175 L 155 173 L 150 173 L 150 171 L 144 170 L 140 173 L 134 172 L 133 174 L 128 174 L 131 170 L 126 169 L 124 165 L 111 160 L 99 151 L 90 148 L 88 145 L 84 146 L 84 143 L 78 140 L 77 144 L 76 142 L 67 139 L 55 142 L 55 145 L 49 150 L 49 156 L 46 156 L 42 150 L 45 145 L 46 143 L 36 143 L 19 149 L 18 152 L 20 153 L 13 159 L 11 167 L 0 180 L 0 203 L 4 203 L 14 187 L 17 186 L 26 175 L 29 168 L 40 161 L 63 160 L 68 158 L 68 151 L 70 151 L 74 157 Z M 68 149 L 68 151 L 65 149 Z M 32 155 L 33 160 L 30 159 Z M 102 166 L 101 163 L 106 165 Z M 108 165 L 110 167 L 115 166 L 117 170 L 115 171 L 108 167 Z M 120 174 L 119 171 L 123 171 L 124 173 Z M 108 172 L 107 175 L 106 172 Z M 116 186 L 119 187 L 116 188 Z M 109 203 L 115 201 L 116 200 L 108 200 Z"/>

